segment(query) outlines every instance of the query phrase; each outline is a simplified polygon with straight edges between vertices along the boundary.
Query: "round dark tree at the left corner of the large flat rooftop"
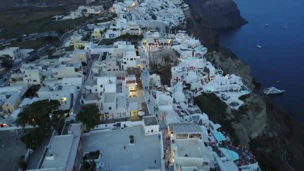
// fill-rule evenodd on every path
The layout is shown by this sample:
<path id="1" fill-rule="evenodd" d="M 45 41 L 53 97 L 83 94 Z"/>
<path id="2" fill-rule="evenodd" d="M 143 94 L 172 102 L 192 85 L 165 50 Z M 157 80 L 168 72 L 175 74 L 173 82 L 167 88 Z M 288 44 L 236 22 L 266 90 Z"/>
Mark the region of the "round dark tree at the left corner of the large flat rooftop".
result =
<path id="1" fill-rule="evenodd" d="M 99 123 L 98 111 L 96 105 L 82 106 L 80 112 L 76 115 L 76 120 L 85 124 L 86 130 L 90 130 Z"/>

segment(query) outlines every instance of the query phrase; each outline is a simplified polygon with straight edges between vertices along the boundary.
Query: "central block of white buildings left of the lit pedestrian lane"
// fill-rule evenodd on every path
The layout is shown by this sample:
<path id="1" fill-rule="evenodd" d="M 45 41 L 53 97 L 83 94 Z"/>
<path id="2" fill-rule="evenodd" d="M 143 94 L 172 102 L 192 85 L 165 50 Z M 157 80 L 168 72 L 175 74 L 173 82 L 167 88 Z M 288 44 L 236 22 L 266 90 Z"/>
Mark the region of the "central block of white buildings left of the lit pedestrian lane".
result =
<path id="1" fill-rule="evenodd" d="M 101 119 L 137 116 L 141 103 L 130 96 L 136 91 L 136 76 L 128 72 L 133 69 L 140 73 L 141 62 L 134 45 L 117 41 L 102 50 L 85 82 L 81 104 L 98 105 Z"/>

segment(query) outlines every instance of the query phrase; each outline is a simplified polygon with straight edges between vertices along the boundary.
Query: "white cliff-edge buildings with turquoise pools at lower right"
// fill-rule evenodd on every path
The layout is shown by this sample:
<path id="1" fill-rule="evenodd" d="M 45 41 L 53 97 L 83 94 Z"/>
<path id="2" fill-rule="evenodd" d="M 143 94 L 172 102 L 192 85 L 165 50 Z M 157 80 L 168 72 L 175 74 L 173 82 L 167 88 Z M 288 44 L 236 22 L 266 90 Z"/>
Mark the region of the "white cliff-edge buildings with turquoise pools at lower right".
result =
<path id="1" fill-rule="evenodd" d="M 169 137 L 170 148 L 165 150 L 167 168 L 170 170 L 260 170 L 254 156 L 247 151 L 247 158 L 240 158 L 239 151 L 233 151 L 231 143 L 220 124 L 209 120 L 193 104 L 193 93 L 184 90 L 177 82 L 162 91 L 151 90 L 151 103 L 158 107 L 158 118 L 167 127 L 163 136 Z M 161 121 L 160 121 L 161 122 Z M 228 142 L 228 143 L 227 143 Z M 227 145 L 226 145 L 227 144 Z"/>

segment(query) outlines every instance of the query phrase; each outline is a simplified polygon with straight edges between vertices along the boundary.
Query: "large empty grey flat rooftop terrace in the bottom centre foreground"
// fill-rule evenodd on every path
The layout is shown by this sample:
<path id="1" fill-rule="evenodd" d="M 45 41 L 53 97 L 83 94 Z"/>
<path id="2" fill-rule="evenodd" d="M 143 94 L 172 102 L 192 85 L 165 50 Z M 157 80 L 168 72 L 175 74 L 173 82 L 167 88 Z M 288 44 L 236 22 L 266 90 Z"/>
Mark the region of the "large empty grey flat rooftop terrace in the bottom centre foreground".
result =
<path id="1" fill-rule="evenodd" d="M 128 145 L 129 135 L 134 135 L 134 145 Z M 119 171 L 161 168 L 160 140 L 157 135 L 144 136 L 141 125 L 83 136 L 83 152 L 97 149 L 102 153 L 99 162 L 104 163 L 104 169 L 107 169 L 108 166 L 111 167 L 111 170 Z"/>

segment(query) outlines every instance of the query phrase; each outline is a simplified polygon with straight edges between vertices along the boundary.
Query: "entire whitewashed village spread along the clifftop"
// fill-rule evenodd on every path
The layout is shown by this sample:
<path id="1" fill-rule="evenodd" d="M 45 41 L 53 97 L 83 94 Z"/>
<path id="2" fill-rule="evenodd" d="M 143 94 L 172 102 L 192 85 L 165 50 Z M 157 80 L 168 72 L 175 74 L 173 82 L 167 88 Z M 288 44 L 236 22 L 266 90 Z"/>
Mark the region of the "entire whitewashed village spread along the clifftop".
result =
<path id="1" fill-rule="evenodd" d="M 250 89 L 241 77 L 224 75 L 207 61 L 199 39 L 171 30 L 185 24 L 183 9 L 187 5 L 181 0 L 114 3 L 108 13 L 117 15 L 112 20 L 73 31 L 64 42 L 72 51 L 63 47 L 59 58 L 46 55 L 22 63 L 7 77 L 0 87 L 3 131 L 20 132 L 18 114 L 38 100 L 58 100 L 66 116 L 62 132 L 52 134 L 29 170 L 82 170 L 82 156 L 95 150 L 100 151 L 96 170 L 261 170 L 250 150 L 232 144 L 193 101 L 214 93 L 238 109 L 243 103 L 238 97 Z M 89 40 L 83 40 L 89 32 Z M 4 50 L 0 53 L 21 55 L 17 47 Z M 171 78 L 164 83 L 157 69 L 168 65 Z M 39 85 L 36 95 L 24 97 L 32 85 Z M 86 131 L 82 123 L 68 123 L 81 106 L 92 104 L 100 124 Z M 24 155 L 30 159 L 31 153 Z"/>

